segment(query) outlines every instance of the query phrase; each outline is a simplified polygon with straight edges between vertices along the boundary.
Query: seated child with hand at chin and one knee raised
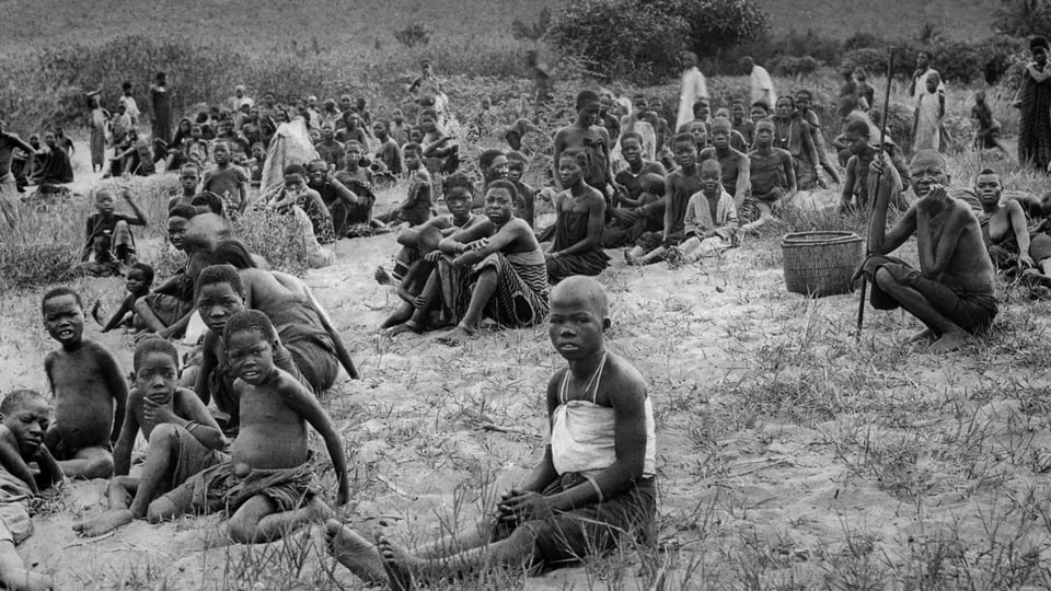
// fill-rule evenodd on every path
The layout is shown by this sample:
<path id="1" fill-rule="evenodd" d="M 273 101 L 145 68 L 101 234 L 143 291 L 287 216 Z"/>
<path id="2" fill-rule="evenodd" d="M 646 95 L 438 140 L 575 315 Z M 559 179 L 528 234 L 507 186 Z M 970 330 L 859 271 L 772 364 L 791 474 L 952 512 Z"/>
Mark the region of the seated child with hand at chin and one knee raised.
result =
<path id="1" fill-rule="evenodd" d="M 190 476 L 224 462 L 227 441 L 211 413 L 192 390 L 177 387 L 178 351 L 150 337 L 135 348 L 135 387 L 128 394 L 120 438 L 113 452 L 114 478 L 106 487 L 109 509 L 73 524 L 81 535 L 97 536 L 146 519 L 150 502 Z M 142 430 L 149 442 L 138 477 L 128 476 L 131 447 Z"/>

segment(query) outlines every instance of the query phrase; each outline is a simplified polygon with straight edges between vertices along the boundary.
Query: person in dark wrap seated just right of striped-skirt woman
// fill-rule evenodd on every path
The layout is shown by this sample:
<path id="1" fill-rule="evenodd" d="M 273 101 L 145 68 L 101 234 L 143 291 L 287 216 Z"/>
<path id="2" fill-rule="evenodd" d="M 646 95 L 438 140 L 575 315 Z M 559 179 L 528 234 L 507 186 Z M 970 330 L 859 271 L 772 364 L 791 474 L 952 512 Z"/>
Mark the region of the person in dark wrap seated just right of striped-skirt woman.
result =
<path id="1" fill-rule="evenodd" d="M 558 176 L 565 189 L 555 197 L 555 237 L 544 253 L 552 283 L 573 275 L 598 275 L 610 264 L 602 250 L 605 198 L 584 182 L 588 154 L 571 148 L 559 158 Z"/>

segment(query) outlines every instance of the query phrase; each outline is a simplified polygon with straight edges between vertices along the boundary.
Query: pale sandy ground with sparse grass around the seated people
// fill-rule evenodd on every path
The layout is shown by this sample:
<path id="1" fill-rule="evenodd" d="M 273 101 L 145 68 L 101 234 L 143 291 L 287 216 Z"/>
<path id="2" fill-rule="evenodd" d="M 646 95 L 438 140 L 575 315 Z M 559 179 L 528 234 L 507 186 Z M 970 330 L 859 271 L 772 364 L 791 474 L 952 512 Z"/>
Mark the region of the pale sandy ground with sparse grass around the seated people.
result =
<path id="1" fill-rule="evenodd" d="M 544 385 L 562 360 L 544 327 L 483 333 L 461 348 L 377 334 L 395 299 L 371 275 L 395 250 L 393 235 L 340 241 L 337 264 L 307 281 L 362 374 L 323 401 L 350 466 L 354 500 L 344 519 L 412 544 L 469 523 L 485 498 L 528 473 L 546 432 Z M 646 375 L 657 413 L 662 552 L 626 548 L 481 588 L 1047 582 L 1047 303 L 1006 291 L 985 343 L 938 357 L 903 344 L 919 325 L 901 312 L 869 309 L 855 340 L 855 296 L 787 293 L 776 241 L 675 269 L 631 268 L 611 255 L 601 276 L 613 301 L 610 347 Z M 111 310 L 123 290 L 118 279 L 78 286 Z M 0 391 L 46 390 L 43 358 L 53 344 L 38 298 L 0 300 Z M 128 336 L 99 335 L 93 324 L 88 336 L 129 370 Z M 332 495 L 331 475 L 324 482 Z M 360 584 L 324 554 L 316 528 L 276 544 L 209 551 L 199 546 L 213 535 L 215 517 L 77 537 L 71 524 L 103 510 L 104 486 L 67 484 L 20 547 L 63 589 Z"/>

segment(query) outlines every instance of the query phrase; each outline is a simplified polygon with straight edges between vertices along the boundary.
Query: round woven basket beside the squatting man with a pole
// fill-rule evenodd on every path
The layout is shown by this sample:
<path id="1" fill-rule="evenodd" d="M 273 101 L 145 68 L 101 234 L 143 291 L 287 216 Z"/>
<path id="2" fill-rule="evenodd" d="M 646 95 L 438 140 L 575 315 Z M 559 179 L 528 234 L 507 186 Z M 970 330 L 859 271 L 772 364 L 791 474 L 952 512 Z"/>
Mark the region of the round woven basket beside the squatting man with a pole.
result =
<path id="1" fill-rule="evenodd" d="M 812 298 L 854 290 L 851 277 L 862 262 L 862 237 L 853 232 L 797 232 L 781 242 L 785 286 Z"/>

